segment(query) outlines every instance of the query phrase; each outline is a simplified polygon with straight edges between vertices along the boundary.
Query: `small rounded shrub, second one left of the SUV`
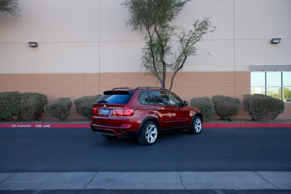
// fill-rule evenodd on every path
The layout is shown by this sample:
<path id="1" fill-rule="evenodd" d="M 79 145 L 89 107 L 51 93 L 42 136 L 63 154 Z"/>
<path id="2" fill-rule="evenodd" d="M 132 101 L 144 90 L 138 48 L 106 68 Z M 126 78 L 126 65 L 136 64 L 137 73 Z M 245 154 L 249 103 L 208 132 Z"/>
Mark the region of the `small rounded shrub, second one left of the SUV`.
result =
<path id="1" fill-rule="evenodd" d="M 45 112 L 49 113 L 50 116 L 65 121 L 71 113 L 70 109 L 72 107 L 72 103 L 71 98 L 60 97 L 52 103 L 45 105 Z"/>

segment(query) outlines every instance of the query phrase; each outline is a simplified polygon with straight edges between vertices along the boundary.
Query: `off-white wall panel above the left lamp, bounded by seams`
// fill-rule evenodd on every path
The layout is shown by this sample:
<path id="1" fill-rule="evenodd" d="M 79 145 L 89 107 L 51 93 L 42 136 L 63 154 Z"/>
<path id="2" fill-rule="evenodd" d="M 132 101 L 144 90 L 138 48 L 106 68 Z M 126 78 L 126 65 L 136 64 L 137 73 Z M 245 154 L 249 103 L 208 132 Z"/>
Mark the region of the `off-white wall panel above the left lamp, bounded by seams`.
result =
<path id="1" fill-rule="evenodd" d="M 19 0 L 21 18 L 0 14 L 0 43 L 98 42 L 99 0 Z"/>

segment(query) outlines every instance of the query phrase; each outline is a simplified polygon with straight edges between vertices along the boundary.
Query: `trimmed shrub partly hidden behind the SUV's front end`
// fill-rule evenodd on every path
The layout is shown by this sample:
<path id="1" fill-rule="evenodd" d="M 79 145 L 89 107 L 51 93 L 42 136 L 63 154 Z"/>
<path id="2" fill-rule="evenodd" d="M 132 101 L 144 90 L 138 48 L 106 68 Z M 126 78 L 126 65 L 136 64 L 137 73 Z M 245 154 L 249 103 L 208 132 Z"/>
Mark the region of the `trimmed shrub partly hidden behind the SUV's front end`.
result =
<path id="1" fill-rule="evenodd" d="M 190 104 L 200 110 L 205 122 L 209 121 L 215 114 L 214 103 L 209 97 L 192 98 Z"/>

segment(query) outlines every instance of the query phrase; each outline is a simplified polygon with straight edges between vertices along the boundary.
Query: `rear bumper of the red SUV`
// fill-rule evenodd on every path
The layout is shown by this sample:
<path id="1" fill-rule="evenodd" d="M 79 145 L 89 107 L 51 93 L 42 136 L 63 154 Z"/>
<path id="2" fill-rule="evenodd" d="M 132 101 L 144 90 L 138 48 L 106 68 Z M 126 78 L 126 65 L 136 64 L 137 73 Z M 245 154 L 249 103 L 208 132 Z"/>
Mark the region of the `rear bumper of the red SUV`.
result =
<path id="1" fill-rule="evenodd" d="M 91 129 L 93 132 L 116 135 L 116 136 L 138 136 L 139 130 L 131 130 L 131 125 L 122 125 L 120 127 L 111 127 L 104 125 L 96 125 L 91 123 Z"/>

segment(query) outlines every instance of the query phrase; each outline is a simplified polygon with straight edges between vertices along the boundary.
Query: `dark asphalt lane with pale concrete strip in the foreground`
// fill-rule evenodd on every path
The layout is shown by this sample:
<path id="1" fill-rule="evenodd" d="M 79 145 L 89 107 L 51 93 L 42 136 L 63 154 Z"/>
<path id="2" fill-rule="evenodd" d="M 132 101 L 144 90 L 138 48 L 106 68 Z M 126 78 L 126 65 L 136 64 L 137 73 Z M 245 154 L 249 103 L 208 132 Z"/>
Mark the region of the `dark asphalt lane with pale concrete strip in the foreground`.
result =
<path id="1" fill-rule="evenodd" d="M 290 128 L 205 128 L 141 146 L 133 137 L 104 140 L 88 128 L 3 128 L 0 190 L 288 193 L 290 140 Z"/>

